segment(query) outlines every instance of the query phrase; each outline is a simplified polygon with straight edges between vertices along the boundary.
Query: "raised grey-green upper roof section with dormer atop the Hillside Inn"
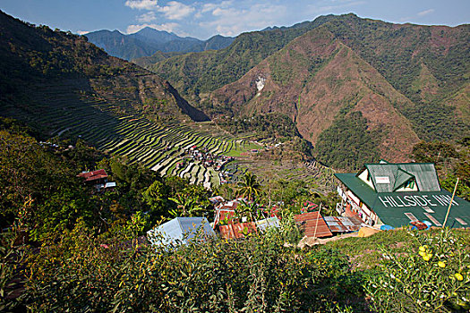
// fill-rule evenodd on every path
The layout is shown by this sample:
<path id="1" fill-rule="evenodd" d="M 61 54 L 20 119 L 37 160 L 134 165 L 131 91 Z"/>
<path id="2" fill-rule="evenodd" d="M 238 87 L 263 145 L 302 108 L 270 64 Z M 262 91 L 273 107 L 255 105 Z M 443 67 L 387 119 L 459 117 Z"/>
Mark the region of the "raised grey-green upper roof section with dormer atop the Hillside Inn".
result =
<path id="1" fill-rule="evenodd" d="M 438 174 L 432 163 L 381 163 L 365 167 L 377 192 L 393 192 L 411 179 L 420 191 L 440 191 Z"/>

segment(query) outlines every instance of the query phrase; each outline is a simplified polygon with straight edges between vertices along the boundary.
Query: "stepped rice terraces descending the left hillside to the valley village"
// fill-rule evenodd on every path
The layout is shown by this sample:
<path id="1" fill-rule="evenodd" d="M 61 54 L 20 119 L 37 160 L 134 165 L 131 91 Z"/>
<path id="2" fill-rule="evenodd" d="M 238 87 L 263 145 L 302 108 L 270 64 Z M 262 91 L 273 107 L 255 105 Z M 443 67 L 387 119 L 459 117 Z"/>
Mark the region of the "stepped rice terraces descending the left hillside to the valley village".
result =
<path id="1" fill-rule="evenodd" d="M 31 89 L 31 93 L 35 93 Z M 33 96 L 27 110 L 11 115 L 49 130 L 51 136 L 80 137 L 97 148 L 131 162 L 141 164 L 161 175 L 178 175 L 192 183 L 203 183 L 210 188 L 220 184 L 217 171 L 200 162 L 186 159 L 184 152 L 192 147 L 207 148 L 214 156 L 240 153 L 259 148 L 248 140 L 230 135 L 214 137 L 208 131 L 199 131 L 183 123 L 152 123 L 125 101 L 106 101 L 102 97 L 73 89 L 67 82 L 55 84 Z"/>

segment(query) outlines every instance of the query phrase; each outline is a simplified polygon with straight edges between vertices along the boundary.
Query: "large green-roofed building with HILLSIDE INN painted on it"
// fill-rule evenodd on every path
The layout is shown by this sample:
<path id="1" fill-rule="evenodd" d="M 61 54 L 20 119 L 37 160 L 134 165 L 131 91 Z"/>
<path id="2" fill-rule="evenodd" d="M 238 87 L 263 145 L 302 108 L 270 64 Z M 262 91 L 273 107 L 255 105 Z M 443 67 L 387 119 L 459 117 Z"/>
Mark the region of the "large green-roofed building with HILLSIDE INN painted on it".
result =
<path id="1" fill-rule="evenodd" d="M 342 182 L 340 214 L 353 212 L 365 224 L 393 227 L 414 221 L 429 221 L 442 226 L 452 194 L 440 188 L 432 163 L 398 163 L 380 161 L 366 164 L 359 173 L 336 173 Z M 446 226 L 470 227 L 470 203 L 457 197 L 452 201 Z"/>

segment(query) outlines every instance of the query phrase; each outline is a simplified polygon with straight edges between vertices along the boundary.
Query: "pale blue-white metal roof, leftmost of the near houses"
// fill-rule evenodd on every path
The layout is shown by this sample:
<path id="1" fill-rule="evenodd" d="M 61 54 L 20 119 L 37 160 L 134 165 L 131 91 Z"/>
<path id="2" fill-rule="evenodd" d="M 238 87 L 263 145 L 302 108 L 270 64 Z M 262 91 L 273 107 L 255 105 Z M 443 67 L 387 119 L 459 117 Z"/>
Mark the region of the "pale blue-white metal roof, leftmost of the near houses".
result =
<path id="1" fill-rule="evenodd" d="M 176 217 L 147 232 L 147 237 L 154 245 L 185 244 L 200 230 L 205 236 L 216 234 L 206 217 Z"/>

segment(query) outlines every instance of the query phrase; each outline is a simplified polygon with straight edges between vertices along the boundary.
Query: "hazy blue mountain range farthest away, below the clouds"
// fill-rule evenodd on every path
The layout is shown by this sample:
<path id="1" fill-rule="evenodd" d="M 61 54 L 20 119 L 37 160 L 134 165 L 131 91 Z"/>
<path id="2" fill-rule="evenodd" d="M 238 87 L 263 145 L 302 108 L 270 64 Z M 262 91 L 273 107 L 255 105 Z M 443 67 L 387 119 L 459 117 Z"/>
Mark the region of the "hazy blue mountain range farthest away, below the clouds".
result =
<path id="1" fill-rule="evenodd" d="M 188 53 L 218 50 L 230 46 L 234 38 L 214 36 L 207 40 L 185 37 L 164 30 L 146 27 L 136 33 L 124 35 L 118 30 L 97 30 L 85 35 L 89 41 L 103 48 L 107 54 L 124 60 L 137 59 L 155 53 Z"/>

